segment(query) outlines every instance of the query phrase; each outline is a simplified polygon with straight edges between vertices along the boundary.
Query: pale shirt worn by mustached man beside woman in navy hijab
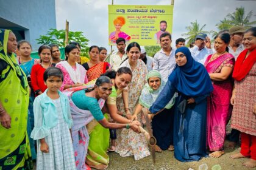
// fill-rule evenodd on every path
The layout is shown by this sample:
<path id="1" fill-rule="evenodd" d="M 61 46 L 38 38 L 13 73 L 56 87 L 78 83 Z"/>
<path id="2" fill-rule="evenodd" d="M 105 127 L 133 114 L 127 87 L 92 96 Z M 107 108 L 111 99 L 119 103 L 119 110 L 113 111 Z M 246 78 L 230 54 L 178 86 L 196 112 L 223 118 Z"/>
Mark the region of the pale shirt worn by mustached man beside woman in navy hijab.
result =
<path id="1" fill-rule="evenodd" d="M 174 55 L 175 49 L 173 48 L 169 55 L 166 55 L 163 49 L 161 49 L 155 54 L 153 58 L 153 70 L 157 70 L 158 72 L 160 72 L 164 80 L 168 79 L 169 74 L 172 72 L 176 65 Z"/>

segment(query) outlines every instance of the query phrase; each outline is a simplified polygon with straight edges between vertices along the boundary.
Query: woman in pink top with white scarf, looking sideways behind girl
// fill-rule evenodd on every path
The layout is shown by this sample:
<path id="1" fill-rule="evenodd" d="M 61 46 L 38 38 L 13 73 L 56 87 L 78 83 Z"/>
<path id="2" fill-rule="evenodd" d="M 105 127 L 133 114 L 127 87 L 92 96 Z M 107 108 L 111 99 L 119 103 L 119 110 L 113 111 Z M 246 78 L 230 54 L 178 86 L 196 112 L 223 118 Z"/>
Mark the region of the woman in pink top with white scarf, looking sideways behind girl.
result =
<path id="1" fill-rule="evenodd" d="M 60 91 L 71 87 L 83 86 L 84 83 L 88 83 L 86 70 L 80 64 L 77 63 L 80 51 L 74 44 L 69 44 L 65 47 L 66 61 L 60 61 L 56 64 L 56 67 L 62 70 L 64 80 Z"/>

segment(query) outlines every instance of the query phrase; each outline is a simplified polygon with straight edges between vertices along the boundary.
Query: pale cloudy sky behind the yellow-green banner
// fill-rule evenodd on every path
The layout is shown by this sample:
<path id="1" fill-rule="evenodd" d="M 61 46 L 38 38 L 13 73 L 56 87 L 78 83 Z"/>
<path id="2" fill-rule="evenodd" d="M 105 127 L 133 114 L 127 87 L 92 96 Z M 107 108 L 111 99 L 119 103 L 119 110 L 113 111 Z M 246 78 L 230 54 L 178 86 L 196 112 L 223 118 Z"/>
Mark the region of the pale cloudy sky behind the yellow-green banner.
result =
<path id="1" fill-rule="evenodd" d="M 170 5 L 171 0 L 113 0 L 114 5 Z M 65 29 L 66 19 L 70 31 L 82 31 L 89 39 L 89 46 L 108 46 L 108 5 L 112 0 L 55 0 L 57 29 Z M 172 22 L 172 46 L 186 33 L 190 22 L 206 24 L 207 31 L 215 30 L 216 24 L 236 7 L 244 7 L 246 14 L 252 10 L 256 20 L 256 0 L 175 0 Z M 112 23 L 111 23 L 112 24 Z M 116 50 L 116 47 L 113 47 Z"/>

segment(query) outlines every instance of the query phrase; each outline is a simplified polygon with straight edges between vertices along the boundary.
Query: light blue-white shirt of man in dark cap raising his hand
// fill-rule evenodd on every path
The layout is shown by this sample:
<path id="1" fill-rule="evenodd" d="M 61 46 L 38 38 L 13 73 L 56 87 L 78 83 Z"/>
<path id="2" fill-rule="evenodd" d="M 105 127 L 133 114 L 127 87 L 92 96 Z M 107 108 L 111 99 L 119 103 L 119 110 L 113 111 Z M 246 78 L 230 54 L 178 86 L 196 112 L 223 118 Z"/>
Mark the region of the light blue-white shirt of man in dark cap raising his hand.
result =
<path id="1" fill-rule="evenodd" d="M 190 52 L 194 60 L 204 65 L 207 56 L 212 54 L 214 51 L 213 49 L 207 49 L 205 47 L 204 49 L 199 50 L 198 46 L 194 46 L 190 49 Z"/>

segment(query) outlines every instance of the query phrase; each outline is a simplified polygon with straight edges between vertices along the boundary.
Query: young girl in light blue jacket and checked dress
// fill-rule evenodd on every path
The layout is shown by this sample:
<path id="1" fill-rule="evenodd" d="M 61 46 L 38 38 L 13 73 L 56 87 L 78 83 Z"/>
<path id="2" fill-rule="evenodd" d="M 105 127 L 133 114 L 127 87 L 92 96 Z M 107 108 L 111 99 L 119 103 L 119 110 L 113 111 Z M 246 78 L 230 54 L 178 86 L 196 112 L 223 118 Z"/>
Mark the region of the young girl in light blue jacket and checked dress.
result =
<path id="1" fill-rule="evenodd" d="M 49 67 L 43 74 L 47 88 L 35 98 L 35 127 L 31 137 L 37 140 L 37 169 L 76 169 L 69 129 L 73 125 L 68 97 L 59 91 L 63 73 Z"/>

